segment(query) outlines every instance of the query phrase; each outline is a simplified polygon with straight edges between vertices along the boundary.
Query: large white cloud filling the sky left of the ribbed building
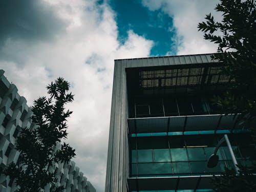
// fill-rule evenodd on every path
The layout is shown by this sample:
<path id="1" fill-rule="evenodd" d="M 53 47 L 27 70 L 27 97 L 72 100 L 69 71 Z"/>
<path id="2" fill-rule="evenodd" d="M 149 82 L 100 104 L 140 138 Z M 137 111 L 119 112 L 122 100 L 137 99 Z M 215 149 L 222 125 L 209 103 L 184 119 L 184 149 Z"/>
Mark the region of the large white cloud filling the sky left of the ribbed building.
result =
<path id="1" fill-rule="evenodd" d="M 115 14 L 96 1 L 45 1 L 65 20 L 65 31 L 54 40 L 9 38 L 1 48 L 0 68 L 16 84 L 28 104 L 46 95 L 46 85 L 59 76 L 72 84 L 75 100 L 69 119 L 68 142 L 74 161 L 97 191 L 104 190 L 108 151 L 114 59 L 147 57 L 153 42 L 129 31 L 117 40 Z"/>

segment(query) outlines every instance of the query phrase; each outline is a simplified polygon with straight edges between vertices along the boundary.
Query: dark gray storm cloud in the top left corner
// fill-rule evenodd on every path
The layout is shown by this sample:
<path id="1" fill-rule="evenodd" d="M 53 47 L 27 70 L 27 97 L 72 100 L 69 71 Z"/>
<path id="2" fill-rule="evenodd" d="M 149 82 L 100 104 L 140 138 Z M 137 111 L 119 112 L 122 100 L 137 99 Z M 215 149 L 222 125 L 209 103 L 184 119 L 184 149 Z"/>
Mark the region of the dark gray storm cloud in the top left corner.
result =
<path id="1" fill-rule="evenodd" d="M 0 1 L 0 46 L 11 39 L 51 40 L 65 31 L 65 20 L 44 1 Z"/>

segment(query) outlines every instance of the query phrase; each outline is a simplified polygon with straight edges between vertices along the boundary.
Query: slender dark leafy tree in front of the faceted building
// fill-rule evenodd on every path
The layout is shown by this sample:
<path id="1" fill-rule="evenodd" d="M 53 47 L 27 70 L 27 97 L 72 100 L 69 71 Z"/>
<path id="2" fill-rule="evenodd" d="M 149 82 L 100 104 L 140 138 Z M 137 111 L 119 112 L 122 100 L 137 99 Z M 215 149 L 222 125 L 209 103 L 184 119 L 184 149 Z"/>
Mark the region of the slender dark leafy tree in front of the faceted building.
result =
<path id="1" fill-rule="evenodd" d="M 20 163 L 9 164 L 4 171 L 10 179 L 15 179 L 17 191 L 40 191 L 47 184 L 51 184 L 50 191 L 64 189 L 55 185 L 57 179 L 49 167 L 59 161 L 67 163 L 75 156 L 75 150 L 62 141 L 67 138 L 67 118 L 72 113 L 65 110 L 74 97 L 68 93 L 69 88 L 70 83 L 58 78 L 47 86 L 50 98 L 39 97 L 34 101 L 32 122 L 36 125 L 22 129 L 15 145 L 20 152 Z M 58 143 L 60 148 L 56 148 Z"/>

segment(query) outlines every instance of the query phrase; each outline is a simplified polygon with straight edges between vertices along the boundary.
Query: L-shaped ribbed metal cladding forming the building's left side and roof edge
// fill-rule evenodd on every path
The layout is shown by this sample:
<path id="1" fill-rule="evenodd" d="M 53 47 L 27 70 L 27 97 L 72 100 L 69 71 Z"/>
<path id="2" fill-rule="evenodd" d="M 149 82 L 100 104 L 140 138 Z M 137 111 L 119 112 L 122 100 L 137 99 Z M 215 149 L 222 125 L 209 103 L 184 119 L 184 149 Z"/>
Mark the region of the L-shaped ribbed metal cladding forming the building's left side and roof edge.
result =
<path id="1" fill-rule="evenodd" d="M 126 192 L 129 177 L 127 91 L 125 68 L 216 62 L 211 54 L 115 60 L 105 192 Z"/>

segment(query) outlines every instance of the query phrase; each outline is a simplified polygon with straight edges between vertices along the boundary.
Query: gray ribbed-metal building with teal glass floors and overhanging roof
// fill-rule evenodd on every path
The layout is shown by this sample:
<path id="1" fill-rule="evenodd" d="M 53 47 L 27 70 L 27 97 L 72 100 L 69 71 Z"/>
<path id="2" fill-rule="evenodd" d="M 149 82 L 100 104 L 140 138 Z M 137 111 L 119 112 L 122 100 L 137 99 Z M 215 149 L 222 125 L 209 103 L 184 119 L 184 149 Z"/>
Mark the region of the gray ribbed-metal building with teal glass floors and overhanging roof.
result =
<path id="1" fill-rule="evenodd" d="M 105 192 L 211 191 L 210 178 L 256 159 L 248 125 L 212 102 L 231 79 L 210 54 L 115 60 Z"/>

